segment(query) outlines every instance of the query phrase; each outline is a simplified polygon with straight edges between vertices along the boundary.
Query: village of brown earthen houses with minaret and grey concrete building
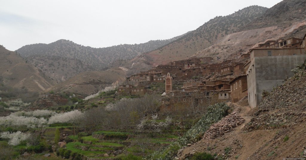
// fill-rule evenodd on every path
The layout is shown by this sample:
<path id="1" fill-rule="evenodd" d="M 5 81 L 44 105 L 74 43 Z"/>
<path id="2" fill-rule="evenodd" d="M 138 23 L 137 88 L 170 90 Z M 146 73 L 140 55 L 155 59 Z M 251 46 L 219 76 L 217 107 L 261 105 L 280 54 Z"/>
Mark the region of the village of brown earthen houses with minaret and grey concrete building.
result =
<path id="1" fill-rule="evenodd" d="M 241 54 L 235 61 L 219 62 L 218 57 L 191 58 L 152 67 L 129 76 L 118 94 L 144 95 L 148 86 L 165 83 L 161 110 L 177 103 L 237 102 L 248 97 L 251 108 L 259 105 L 263 91 L 271 91 L 293 75 L 291 71 L 306 59 L 303 39 L 269 40 Z M 181 90 L 173 82 L 183 82 Z"/>

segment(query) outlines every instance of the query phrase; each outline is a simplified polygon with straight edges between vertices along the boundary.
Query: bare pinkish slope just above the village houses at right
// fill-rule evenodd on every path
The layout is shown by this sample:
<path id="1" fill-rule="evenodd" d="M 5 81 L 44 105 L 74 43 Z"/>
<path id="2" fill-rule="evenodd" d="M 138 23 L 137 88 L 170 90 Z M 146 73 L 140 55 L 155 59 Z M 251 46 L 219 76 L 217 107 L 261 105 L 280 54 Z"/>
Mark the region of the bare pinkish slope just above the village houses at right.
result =
<path id="1" fill-rule="evenodd" d="M 191 57 L 220 57 L 222 60 L 237 60 L 242 53 L 247 53 L 249 49 L 257 47 L 259 43 L 264 43 L 268 40 L 276 40 L 283 37 L 288 37 L 287 35 L 295 36 L 297 38 L 302 38 L 306 32 L 304 28 L 306 21 L 295 22 L 291 26 L 282 27 L 266 27 L 254 30 L 246 30 L 233 34 L 229 34 L 223 37 L 216 44 L 213 44 Z M 299 28 L 302 28 L 299 30 Z M 292 32 L 296 30 L 295 34 Z M 297 35 L 297 36 L 296 36 Z"/>

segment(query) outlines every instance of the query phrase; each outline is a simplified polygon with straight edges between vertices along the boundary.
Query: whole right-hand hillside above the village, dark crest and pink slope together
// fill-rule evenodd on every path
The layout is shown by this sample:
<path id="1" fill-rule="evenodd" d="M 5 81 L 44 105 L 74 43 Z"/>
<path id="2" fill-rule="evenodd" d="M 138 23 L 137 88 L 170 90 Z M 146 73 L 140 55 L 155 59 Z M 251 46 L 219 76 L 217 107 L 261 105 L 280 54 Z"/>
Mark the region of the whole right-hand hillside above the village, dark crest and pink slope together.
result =
<path id="1" fill-rule="evenodd" d="M 305 4 L 304 0 L 284 0 L 241 27 L 239 32 L 222 37 L 192 57 L 218 56 L 221 61 L 237 60 L 242 53 L 267 40 L 302 38 L 306 33 Z"/>

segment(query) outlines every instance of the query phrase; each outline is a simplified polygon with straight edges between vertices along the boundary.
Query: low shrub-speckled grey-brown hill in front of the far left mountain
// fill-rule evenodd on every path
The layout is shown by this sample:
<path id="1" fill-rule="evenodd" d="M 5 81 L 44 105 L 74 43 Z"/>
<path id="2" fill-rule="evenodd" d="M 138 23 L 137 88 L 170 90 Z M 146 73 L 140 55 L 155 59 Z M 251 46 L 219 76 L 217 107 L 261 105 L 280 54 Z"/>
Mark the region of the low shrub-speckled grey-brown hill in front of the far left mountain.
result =
<path id="1" fill-rule="evenodd" d="M 95 70 L 79 59 L 59 56 L 32 55 L 26 57 L 25 60 L 52 80 L 56 80 L 57 83 L 76 76 L 78 73 Z"/>

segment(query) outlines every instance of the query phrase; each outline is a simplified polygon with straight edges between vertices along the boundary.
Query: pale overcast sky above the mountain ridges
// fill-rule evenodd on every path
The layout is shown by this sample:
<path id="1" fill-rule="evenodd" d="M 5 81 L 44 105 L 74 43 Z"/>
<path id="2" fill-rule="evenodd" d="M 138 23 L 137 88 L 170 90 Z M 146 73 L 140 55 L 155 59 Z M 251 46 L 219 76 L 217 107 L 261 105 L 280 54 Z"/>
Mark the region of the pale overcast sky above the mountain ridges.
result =
<path id="1" fill-rule="evenodd" d="M 0 45 L 66 39 L 95 48 L 170 39 L 216 16 L 281 0 L 0 0 Z"/>

